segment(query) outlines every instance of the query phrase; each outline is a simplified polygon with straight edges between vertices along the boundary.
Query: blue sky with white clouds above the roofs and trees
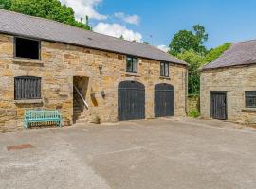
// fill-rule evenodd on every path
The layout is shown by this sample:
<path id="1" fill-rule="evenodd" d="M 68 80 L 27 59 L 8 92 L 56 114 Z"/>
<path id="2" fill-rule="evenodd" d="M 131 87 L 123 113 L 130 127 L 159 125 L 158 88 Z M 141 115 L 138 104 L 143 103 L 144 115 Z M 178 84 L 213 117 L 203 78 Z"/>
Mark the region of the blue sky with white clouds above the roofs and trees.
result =
<path id="1" fill-rule="evenodd" d="M 61 0 L 95 32 L 168 50 L 174 34 L 205 26 L 214 48 L 256 39 L 256 0 Z"/>

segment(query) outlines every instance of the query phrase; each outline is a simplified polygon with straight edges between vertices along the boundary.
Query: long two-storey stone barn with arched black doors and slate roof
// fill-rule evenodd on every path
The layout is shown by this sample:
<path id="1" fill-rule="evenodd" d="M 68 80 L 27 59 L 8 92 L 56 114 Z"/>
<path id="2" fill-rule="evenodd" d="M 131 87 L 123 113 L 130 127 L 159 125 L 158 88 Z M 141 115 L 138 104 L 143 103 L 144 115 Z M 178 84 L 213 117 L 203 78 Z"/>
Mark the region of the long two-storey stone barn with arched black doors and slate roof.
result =
<path id="1" fill-rule="evenodd" d="M 27 109 L 58 109 L 64 125 L 185 116 L 186 95 L 187 64 L 151 45 L 0 10 L 2 130 Z"/>

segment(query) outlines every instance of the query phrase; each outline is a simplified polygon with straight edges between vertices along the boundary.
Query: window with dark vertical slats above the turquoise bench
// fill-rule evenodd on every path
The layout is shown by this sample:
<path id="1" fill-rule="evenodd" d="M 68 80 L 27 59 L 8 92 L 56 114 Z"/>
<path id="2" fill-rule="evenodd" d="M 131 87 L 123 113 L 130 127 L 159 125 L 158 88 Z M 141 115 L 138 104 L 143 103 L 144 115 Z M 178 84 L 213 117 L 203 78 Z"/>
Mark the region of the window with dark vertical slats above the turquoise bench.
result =
<path id="1" fill-rule="evenodd" d="M 14 77 L 15 100 L 41 99 L 41 78 Z"/>

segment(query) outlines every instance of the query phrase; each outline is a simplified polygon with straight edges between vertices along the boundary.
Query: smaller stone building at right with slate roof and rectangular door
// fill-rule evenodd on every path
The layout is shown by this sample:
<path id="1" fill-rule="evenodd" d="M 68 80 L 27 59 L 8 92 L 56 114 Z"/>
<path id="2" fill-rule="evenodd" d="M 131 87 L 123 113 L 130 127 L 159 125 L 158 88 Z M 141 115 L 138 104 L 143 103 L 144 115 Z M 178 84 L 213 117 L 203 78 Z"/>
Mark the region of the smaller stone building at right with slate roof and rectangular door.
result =
<path id="1" fill-rule="evenodd" d="M 204 118 L 256 123 L 256 41 L 232 43 L 201 73 Z"/>

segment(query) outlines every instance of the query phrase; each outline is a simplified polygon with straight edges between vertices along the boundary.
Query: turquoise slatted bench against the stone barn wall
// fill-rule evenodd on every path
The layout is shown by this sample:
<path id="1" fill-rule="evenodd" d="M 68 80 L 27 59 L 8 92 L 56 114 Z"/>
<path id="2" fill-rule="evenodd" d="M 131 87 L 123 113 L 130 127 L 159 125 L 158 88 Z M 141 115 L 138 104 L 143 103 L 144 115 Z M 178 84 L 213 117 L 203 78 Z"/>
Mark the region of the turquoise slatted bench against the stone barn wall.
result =
<path id="1" fill-rule="evenodd" d="M 27 110 L 24 115 L 24 127 L 29 128 L 31 124 L 44 123 L 46 125 L 56 123 L 59 127 L 62 127 L 62 114 L 58 110 Z"/>

